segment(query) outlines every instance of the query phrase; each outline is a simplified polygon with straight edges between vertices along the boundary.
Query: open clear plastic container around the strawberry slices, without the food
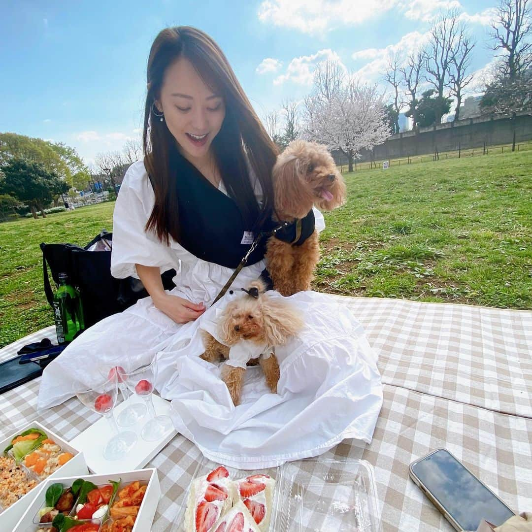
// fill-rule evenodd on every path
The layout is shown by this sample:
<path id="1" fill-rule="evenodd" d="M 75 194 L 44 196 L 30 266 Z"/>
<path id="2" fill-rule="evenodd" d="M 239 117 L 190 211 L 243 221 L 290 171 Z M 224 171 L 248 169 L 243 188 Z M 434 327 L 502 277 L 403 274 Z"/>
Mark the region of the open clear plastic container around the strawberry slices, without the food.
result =
<path id="1" fill-rule="evenodd" d="M 203 459 L 194 478 L 218 467 Z M 356 459 L 305 459 L 256 471 L 228 467 L 229 478 L 268 475 L 276 480 L 270 532 L 381 532 L 371 464 Z M 191 483 L 192 484 L 192 483 Z M 190 486 L 174 521 L 184 528 Z"/>

